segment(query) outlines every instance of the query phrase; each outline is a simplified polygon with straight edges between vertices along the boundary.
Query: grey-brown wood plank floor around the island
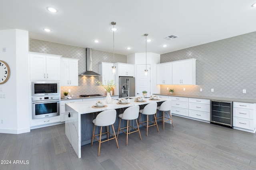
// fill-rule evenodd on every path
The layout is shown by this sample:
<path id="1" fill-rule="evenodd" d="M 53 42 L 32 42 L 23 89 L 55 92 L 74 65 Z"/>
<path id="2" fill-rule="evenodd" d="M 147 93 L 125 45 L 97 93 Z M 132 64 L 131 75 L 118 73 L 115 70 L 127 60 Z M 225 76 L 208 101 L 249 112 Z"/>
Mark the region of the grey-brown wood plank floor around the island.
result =
<path id="1" fill-rule="evenodd" d="M 65 125 L 33 129 L 19 135 L 0 133 L 0 170 L 255 170 L 256 135 L 173 116 L 174 127 L 159 123 L 102 143 L 82 146 L 78 158 L 65 135 Z M 4 161 L 11 164 L 3 164 Z M 18 163 L 16 162 L 18 160 Z M 15 163 L 17 164 L 14 164 Z"/>

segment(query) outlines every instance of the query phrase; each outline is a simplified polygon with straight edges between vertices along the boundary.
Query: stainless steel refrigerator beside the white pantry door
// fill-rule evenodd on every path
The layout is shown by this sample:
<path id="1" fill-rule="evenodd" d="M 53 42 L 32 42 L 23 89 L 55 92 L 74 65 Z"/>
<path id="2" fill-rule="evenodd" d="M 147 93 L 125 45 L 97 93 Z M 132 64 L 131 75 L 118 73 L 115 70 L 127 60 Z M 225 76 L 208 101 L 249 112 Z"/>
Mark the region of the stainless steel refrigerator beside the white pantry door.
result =
<path id="1" fill-rule="evenodd" d="M 119 98 L 135 96 L 135 77 L 119 77 Z"/>

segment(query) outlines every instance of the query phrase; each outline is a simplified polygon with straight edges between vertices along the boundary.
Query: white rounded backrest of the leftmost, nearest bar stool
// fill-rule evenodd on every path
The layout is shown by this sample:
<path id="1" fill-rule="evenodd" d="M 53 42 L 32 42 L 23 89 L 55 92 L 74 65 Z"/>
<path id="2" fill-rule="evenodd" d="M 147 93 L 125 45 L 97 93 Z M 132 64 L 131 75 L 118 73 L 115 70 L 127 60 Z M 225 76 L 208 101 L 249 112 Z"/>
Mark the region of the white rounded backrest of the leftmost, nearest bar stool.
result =
<path id="1" fill-rule="evenodd" d="M 105 110 L 100 112 L 95 119 L 96 126 L 109 126 L 113 125 L 116 121 L 116 110 Z"/>

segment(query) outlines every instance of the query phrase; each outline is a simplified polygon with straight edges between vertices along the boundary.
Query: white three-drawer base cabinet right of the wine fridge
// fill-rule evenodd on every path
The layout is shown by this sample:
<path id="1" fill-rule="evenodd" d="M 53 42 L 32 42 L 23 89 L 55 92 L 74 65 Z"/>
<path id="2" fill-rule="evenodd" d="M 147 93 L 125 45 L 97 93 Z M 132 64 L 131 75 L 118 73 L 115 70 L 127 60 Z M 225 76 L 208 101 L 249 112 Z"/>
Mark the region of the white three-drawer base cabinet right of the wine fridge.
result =
<path id="1" fill-rule="evenodd" d="M 256 131 L 256 104 L 233 102 L 234 129 L 255 133 Z"/>

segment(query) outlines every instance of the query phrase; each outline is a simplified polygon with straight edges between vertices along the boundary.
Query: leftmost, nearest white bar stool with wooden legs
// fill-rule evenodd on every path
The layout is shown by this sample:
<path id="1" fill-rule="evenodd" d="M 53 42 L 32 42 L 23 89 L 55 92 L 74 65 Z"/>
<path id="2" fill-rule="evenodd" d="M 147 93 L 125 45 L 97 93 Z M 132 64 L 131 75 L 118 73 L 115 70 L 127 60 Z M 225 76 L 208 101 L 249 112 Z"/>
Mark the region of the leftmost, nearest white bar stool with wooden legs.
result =
<path id="1" fill-rule="evenodd" d="M 98 156 L 100 156 L 100 144 L 101 143 L 106 142 L 106 141 L 110 141 L 111 139 L 116 139 L 116 133 L 115 133 L 114 125 L 113 125 L 115 123 L 115 121 L 116 121 L 116 110 L 114 110 L 114 109 L 105 110 L 105 111 L 100 112 L 96 116 L 96 118 L 92 121 L 92 123 L 94 123 L 94 129 L 93 129 L 93 135 L 92 135 L 92 144 L 93 144 L 94 138 L 99 142 Z M 109 125 L 112 125 L 114 135 L 112 135 L 111 133 L 108 132 L 108 126 Z M 98 134 L 98 135 L 94 135 L 95 126 L 100 126 L 100 134 Z M 102 126 L 107 127 L 107 132 L 102 133 Z M 111 135 L 112 138 L 109 139 L 109 137 L 108 137 L 108 139 L 106 139 L 104 141 L 101 141 L 101 136 L 103 134 L 107 134 L 107 136 Z M 96 136 L 99 136 L 99 135 L 100 135 L 100 139 L 98 140 L 96 138 Z M 117 139 L 116 139 L 116 145 L 117 145 L 117 148 L 119 148 Z"/>

